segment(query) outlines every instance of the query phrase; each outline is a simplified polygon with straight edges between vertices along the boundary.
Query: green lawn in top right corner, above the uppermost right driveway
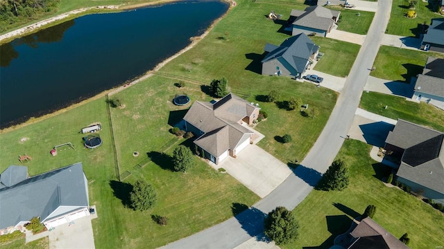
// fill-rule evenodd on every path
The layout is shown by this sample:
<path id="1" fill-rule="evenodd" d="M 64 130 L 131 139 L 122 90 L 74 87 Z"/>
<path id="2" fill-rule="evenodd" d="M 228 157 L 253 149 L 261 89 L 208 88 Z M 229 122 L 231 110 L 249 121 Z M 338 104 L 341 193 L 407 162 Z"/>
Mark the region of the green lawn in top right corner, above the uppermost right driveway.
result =
<path id="1" fill-rule="evenodd" d="M 393 0 L 386 33 L 405 37 L 419 37 L 422 32 L 422 24 L 430 24 L 432 18 L 441 17 L 441 15 L 434 12 L 435 10 L 431 10 L 432 4 L 436 4 L 437 1 L 431 2 L 418 1 L 416 5 L 417 17 L 408 19 L 404 15 L 409 10 L 409 1 Z"/>

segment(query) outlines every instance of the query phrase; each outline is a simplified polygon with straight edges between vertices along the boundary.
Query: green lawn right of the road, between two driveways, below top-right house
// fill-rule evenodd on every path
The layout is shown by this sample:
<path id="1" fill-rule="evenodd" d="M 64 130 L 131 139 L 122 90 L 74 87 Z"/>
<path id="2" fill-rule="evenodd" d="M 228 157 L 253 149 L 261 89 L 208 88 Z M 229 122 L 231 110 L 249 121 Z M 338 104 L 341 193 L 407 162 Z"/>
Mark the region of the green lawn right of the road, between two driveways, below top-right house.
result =
<path id="1" fill-rule="evenodd" d="M 380 46 L 375 59 L 376 70 L 370 75 L 386 80 L 410 82 L 422 73 L 427 57 L 444 58 L 442 53 Z"/>

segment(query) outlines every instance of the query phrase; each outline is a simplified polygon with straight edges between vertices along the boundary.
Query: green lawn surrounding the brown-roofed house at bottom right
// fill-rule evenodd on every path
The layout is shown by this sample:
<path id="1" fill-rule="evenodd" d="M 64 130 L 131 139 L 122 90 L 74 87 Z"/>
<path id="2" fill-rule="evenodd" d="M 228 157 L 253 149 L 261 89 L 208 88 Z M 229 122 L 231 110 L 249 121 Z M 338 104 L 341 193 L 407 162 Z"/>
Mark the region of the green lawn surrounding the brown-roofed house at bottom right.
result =
<path id="1" fill-rule="evenodd" d="M 373 219 L 393 236 L 409 233 L 410 248 L 444 246 L 443 214 L 402 190 L 386 187 L 379 180 L 385 168 L 369 152 L 364 142 L 344 142 L 338 158 L 350 167 L 350 185 L 342 192 L 313 190 L 293 210 L 300 223 L 298 240 L 281 248 L 329 248 L 370 204 L 377 208 Z"/>

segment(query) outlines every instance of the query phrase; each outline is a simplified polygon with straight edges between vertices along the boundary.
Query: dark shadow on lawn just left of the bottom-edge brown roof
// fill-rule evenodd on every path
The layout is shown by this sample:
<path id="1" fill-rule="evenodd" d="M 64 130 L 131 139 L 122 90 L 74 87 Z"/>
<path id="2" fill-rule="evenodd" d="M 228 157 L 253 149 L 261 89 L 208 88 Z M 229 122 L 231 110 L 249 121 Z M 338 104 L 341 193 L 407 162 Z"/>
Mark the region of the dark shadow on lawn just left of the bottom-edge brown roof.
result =
<path id="1" fill-rule="evenodd" d="M 340 234 L 347 232 L 352 223 L 352 219 L 350 219 L 347 215 L 327 215 L 325 216 L 327 220 L 327 230 L 332 235 L 328 237 L 321 245 L 319 246 L 304 246 L 303 249 L 327 249 L 333 246 L 334 239 L 338 237 Z"/>

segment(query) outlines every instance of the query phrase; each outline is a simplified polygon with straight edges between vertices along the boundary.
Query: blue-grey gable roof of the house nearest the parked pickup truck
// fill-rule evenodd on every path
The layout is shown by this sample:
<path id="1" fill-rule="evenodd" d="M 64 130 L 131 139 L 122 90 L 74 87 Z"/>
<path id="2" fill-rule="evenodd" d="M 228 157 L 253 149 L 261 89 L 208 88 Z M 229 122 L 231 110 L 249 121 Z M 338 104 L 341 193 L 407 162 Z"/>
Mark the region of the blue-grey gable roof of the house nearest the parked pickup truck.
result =
<path id="1" fill-rule="evenodd" d="M 271 45 L 267 44 L 266 49 L 271 48 Z M 307 60 L 314 53 L 318 52 L 319 46 L 305 35 L 300 33 L 289 39 L 286 39 L 280 46 L 275 46 L 268 55 L 262 59 L 262 63 L 268 62 L 272 59 L 282 58 L 289 63 L 297 72 L 303 72 L 305 66 L 307 66 Z"/>

